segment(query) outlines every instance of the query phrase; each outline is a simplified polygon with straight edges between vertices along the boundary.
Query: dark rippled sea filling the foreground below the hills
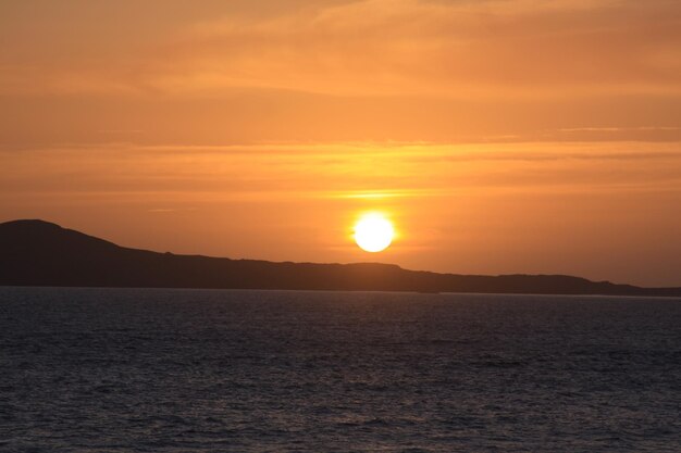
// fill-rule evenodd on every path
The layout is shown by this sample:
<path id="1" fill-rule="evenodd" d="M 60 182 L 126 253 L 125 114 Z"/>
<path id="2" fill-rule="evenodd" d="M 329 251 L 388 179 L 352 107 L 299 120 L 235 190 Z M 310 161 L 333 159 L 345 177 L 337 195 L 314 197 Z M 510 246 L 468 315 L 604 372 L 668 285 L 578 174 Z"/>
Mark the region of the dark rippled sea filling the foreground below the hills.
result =
<path id="1" fill-rule="evenodd" d="M 1 452 L 681 452 L 681 299 L 0 288 Z"/>

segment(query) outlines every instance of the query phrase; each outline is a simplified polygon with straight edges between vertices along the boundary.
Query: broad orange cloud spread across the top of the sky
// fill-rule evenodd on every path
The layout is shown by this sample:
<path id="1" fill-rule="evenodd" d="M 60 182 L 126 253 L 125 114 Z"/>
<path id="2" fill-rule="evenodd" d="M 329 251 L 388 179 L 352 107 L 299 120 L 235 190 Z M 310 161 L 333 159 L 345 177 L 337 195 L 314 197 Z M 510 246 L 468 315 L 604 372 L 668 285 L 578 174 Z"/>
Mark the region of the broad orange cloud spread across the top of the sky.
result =
<path id="1" fill-rule="evenodd" d="M 187 21 L 141 45 L 126 40 L 110 60 L 85 52 L 61 67 L 46 59 L 48 74 L 35 65 L 28 74 L 33 88 L 22 81 L 28 66 L 12 66 L 3 85 L 116 95 L 256 87 L 332 96 L 679 96 L 680 24 L 681 5 L 666 0 L 322 3 Z"/>

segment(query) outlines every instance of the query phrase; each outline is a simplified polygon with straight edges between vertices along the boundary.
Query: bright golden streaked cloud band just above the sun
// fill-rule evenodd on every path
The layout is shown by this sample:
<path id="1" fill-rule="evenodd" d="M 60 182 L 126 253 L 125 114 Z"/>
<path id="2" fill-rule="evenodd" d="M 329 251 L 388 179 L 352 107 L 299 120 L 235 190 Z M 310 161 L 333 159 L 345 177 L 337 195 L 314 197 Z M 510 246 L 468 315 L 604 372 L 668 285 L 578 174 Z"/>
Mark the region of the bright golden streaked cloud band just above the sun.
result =
<path id="1" fill-rule="evenodd" d="M 679 143 L 111 144 L 0 151 L 1 188 L 10 197 L 137 198 L 153 201 L 152 209 L 172 200 L 681 193 L 679 165 Z"/>

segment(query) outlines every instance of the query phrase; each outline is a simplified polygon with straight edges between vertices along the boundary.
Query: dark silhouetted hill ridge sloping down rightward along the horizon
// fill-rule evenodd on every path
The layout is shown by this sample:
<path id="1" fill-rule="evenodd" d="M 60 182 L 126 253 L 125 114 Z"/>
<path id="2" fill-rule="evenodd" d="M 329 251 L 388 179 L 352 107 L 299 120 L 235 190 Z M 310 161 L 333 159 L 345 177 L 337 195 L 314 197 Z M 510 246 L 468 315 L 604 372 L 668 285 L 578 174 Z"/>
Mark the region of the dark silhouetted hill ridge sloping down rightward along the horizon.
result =
<path id="1" fill-rule="evenodd" d="M 42 221 L 0 224 L 0 285 L 674 295 L 565 275 L 454 275 L 389 264 L 272 263 L 119 247 Z"/>

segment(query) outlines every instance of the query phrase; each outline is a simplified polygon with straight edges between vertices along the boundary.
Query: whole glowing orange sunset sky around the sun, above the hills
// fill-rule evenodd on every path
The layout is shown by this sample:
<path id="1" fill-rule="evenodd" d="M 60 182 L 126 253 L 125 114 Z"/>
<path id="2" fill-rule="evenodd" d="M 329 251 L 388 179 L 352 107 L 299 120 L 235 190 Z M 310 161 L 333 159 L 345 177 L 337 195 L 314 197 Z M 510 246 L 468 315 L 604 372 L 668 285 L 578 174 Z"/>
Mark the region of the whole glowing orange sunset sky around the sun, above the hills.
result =
<path id="1" fill-rule="evenodd" d="M 399 238 L 351 242 L 382 210 Z M 681 3 L 0 3 L 0 221 L 681 285 Z"/>

